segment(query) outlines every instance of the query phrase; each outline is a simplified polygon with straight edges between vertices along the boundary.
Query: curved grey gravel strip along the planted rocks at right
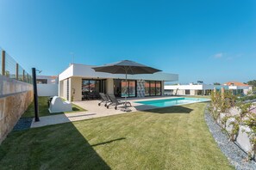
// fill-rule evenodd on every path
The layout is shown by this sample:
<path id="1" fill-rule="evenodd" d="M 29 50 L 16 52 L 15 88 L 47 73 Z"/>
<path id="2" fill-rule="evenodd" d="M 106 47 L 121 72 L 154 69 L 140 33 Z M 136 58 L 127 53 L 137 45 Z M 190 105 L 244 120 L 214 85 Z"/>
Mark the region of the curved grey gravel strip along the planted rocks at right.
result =
<path id="1" fill-rule="evenodd" d="M 209 131 L 215 138 L 215 142 L 218 144 L 219 148 L 222 150 L 222 153 L 226 155 L 228 161 L 235 167 L 235 169 L 256 169 L 256 162 L 245 161 L 247 159 L 247 154 L 235 143 L 228 140 L 228 134 L 225 134 L 221 127 L 218 124 L 215 124 L 214 119 L 209 114 L 207 109 L 205 109 L 204 118 L 209 127 Z"/>

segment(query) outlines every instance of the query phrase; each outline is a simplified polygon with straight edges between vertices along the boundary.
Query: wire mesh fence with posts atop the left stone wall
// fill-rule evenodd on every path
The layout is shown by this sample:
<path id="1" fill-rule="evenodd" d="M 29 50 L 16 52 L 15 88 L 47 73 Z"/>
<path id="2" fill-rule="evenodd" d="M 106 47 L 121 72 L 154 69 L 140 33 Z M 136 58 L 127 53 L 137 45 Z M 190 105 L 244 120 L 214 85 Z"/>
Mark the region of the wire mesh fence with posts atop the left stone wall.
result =
<path id="1" fill-rule="evenodd" d="M 24 70 L 7 52 L 0 47 L 0 75 L 7 76 L 22 82 L 32 83 L 32 76 Z"/>

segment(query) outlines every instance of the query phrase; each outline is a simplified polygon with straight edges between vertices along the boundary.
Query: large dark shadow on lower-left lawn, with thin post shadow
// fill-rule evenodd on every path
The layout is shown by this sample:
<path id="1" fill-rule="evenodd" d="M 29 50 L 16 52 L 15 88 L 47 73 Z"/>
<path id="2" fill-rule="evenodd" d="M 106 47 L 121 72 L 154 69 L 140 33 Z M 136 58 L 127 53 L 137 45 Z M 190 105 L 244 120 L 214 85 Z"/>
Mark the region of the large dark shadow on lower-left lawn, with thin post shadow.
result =
<path id="1" fill-rule="evenodd" d="M 85 133 L 85 132 L 84 132 Z M 1 169 L 110 169 L 72 123 L 11 132 L 0 146 Z M 29 163 L 28 163 L 29 162 Z"/>

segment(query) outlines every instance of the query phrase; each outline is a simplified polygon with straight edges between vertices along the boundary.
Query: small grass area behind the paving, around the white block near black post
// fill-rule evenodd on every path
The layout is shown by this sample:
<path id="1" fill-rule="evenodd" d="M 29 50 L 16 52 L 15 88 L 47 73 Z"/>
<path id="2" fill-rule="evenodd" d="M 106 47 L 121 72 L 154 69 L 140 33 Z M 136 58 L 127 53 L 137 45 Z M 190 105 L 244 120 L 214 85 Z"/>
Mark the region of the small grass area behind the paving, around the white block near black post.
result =
<path id="1" fill-rule="evenodd" d="M 39 116 L 50 116 L 54 114 L 63 114 L 68 112 L 55 112 L 50 113 L 47 106 L 48 97 L 38 98 Z M 82 107 L 72 104 L 72 112 L 83 112 L 85 111 Z M 34 117 L 34 101 L 28 106 L 26 112 L 22 114 L 22 118 Z"/>

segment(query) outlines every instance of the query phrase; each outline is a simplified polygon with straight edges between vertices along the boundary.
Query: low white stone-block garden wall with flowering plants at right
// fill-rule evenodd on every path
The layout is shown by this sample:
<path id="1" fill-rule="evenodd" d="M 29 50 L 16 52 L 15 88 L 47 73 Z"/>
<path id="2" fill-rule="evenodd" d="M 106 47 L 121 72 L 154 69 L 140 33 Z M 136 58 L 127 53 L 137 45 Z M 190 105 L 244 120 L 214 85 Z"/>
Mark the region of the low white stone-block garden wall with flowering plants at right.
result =
<path id="1" fill-rule="evenodd" d="M 253 96 L 255 98 L 256 96 Z M 211 94 L 209 113 L 215 123 L 227 131 L 229 140 L 247 153 L 248 160 L 256 155 L 256 103 L 246 97 L 238 98 L 229 91 Z"/>

